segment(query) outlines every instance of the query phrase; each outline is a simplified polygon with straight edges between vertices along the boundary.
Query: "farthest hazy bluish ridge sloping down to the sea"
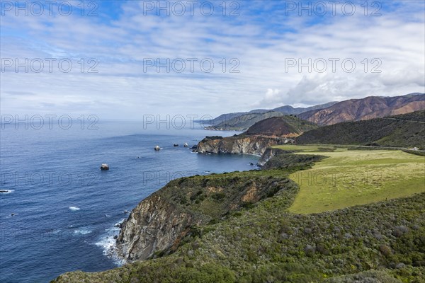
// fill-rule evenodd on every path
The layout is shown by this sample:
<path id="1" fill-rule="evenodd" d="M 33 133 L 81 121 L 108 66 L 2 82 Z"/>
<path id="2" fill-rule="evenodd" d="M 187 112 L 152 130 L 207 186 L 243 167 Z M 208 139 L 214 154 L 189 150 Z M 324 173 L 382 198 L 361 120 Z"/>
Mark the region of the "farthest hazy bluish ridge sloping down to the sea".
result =
<path id="1" fill-rule="evenodd" d="M 279 116 L 279 114 L 277 114 L 276 112 L 279 112 L 283 115 L 298 115 L 302 112 L 307 112 L 310 110 L 318 110 L 318 109 L 323 109 L 323 108 L 328 108 L 331 105 L 334 105 L 335 103 L 337 103 L 336 101 L 334 102 L 329 102 L 329 103 L 325 103 L 325 104 L 321 104 L 321 105 L 314 105 L 311 107 L 307 107 L 307 108 L 293 108 L 290 105 L 285 105 L 285 106 L 280 106 L 278 108 L 274 108 L 274 109 L 255 109 L 255 110 L 251 110 L 249 112 L 234 112 L 234 113 L 227 113 L 227 114 L 222 114 L 218 117 L 216 117 L 213 120 L 210 120 L 210 125 L 214 126 L 214 128 L 226 128 L 226 127 L 232 127 L 232 128 L 236 128 L 236 129 L 247 129 L 249 127 L 251 127 L 252 125 L 254 125 L 255 122 L 258 122 L 260 120 L 266 119 L 268 117 L 275 117 L 275 116 Z M 259 117 L 260 115 L 258 114 L 264 114 L 264 113 L 270 113 L 270 112 L 275 112 L 273 114 L 267 114 L 264 115 L 264 117 Z M 242 117 L 244 115 L 247 115 L 246 117 Z M 252 115 L 252 116 L 251 116 Z M 239 120 L 237 120 L 236 118 L 239 118 Z M 255 118 L 254 120 L 252 120 L 252 122 L 249 123 L 244 123 L 244 121 L 248 121 L 251 120 L 254 117 L 259 117 L 259 119 Z M 239 121 L 242 122 L 244 125 L 240 125 Z"/>

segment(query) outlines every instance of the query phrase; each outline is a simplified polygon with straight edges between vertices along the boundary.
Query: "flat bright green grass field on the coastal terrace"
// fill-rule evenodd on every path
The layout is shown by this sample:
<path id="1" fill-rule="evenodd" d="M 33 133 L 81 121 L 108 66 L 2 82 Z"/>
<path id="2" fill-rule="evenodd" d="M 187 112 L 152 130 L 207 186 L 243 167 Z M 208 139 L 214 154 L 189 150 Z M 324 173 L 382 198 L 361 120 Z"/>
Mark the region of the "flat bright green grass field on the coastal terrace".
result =
<path id="1" fill-rule="evenodd" d="M 425 157 L 402 151 L 320 152 L 325 146 L 276 146 L 328 156 L 290 178 L 300 192 L 290 212 L 310 214 L 425 192 Z"/>

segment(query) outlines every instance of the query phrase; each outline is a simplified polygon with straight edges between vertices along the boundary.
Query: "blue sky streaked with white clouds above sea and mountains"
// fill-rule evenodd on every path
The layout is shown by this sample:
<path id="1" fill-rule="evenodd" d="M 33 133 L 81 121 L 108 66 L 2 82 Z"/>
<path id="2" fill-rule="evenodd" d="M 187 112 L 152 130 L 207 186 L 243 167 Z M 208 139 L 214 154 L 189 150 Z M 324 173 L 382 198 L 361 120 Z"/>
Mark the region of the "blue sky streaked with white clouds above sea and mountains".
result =
<path id="1" fill-rule="evenodd" d="M 424 1 L 0 2 L 2 115 L 215 117 L 425 92 Z"/>

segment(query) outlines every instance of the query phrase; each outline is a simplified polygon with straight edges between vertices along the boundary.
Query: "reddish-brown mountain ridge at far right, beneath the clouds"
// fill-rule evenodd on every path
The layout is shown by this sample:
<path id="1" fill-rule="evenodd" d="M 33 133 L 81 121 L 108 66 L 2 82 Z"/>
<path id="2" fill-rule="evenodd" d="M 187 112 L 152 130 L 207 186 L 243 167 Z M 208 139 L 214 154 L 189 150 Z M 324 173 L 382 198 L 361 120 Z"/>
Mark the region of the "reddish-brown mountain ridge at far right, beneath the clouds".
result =
<path id="1" fill-rule="evenodd" d="M 406 96 L 369 96 L 345 100 L 328 108 L 303 112 L 299 117 L 317 125 L 334 125 L 339 122 L 368 120 L 424 109 L 425 93 L 411 93 Z"/>

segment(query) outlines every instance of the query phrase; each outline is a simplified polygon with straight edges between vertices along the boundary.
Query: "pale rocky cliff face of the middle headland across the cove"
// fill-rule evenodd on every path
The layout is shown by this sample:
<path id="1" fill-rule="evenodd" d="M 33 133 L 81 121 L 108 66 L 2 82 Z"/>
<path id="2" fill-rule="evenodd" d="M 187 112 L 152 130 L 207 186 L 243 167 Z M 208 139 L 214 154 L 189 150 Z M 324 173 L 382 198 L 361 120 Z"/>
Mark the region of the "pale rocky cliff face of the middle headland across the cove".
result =
<path id="1" fill-rule="evenodd" d="M 284 144 L 285 140 L 274 137 L 237 136 L 224 139 L 203 139 L 198 144 L 200 154 L 256 154 L 261 155 L 269 146 Z"/>

